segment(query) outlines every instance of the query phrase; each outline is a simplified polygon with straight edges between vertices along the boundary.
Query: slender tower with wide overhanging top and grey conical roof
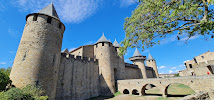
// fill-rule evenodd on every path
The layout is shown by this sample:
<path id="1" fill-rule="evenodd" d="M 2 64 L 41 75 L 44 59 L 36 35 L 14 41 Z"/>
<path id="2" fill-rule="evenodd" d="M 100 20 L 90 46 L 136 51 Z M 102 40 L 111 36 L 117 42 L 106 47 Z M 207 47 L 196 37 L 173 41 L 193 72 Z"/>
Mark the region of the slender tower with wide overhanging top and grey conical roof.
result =
<path id="1" fill-rule="evenodd" d="M 144 61 L 146 60 L 146 56 L 142 56 L 140 54 L 140 52 L 138 51 L 138 49 L 136 48 L 136 50 L 134 52 L 134 55 L 131 58 L 129 58 L 129 60 L 131 60 L 135 65 L 138 65 L 138 67 L 141 70 L 142 77 L 144 79 L 147 78 L 146 67 L 145 67 L 145 64 L 144 64 Z"/>

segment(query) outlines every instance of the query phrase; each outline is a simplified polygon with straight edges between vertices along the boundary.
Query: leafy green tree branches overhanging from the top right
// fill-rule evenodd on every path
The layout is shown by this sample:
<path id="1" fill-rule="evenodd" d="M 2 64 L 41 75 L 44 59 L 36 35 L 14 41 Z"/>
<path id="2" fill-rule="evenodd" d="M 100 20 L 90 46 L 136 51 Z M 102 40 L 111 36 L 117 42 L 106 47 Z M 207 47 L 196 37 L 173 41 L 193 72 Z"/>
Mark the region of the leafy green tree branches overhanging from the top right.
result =
<path id="1" fill-rule="evenodd" d="M 213 34 L 213 0 L 139 0 L 137 8 L 124 23 L 126 38 L 120 48 L 124 54 L 129 47 L 152 47 L 168 34 L 176 34 L 178 40 Z M 188 39 L 187 39 L 188 40 Z"/>

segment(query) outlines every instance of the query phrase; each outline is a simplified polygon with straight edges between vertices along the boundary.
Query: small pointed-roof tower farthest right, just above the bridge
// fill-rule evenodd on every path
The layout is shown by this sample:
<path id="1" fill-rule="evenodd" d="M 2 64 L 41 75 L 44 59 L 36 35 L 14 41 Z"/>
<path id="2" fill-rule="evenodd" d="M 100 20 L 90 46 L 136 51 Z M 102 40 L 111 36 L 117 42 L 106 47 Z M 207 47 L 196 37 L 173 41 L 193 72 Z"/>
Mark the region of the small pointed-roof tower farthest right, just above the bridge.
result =
<path id="1" fill-rule="evenodd" d="M 149 66 L 149 67 L 152 67 L 153 70 L 155 71 L 156 77 L 159 78 L 158 69 L 157 69 L 157 65 L 156 65 L 156 61 L 155 61 L 155 59 L 150 55 L 150 53 L 149 53 L 148 59 L 146 59 L 146 65 Z"/>

